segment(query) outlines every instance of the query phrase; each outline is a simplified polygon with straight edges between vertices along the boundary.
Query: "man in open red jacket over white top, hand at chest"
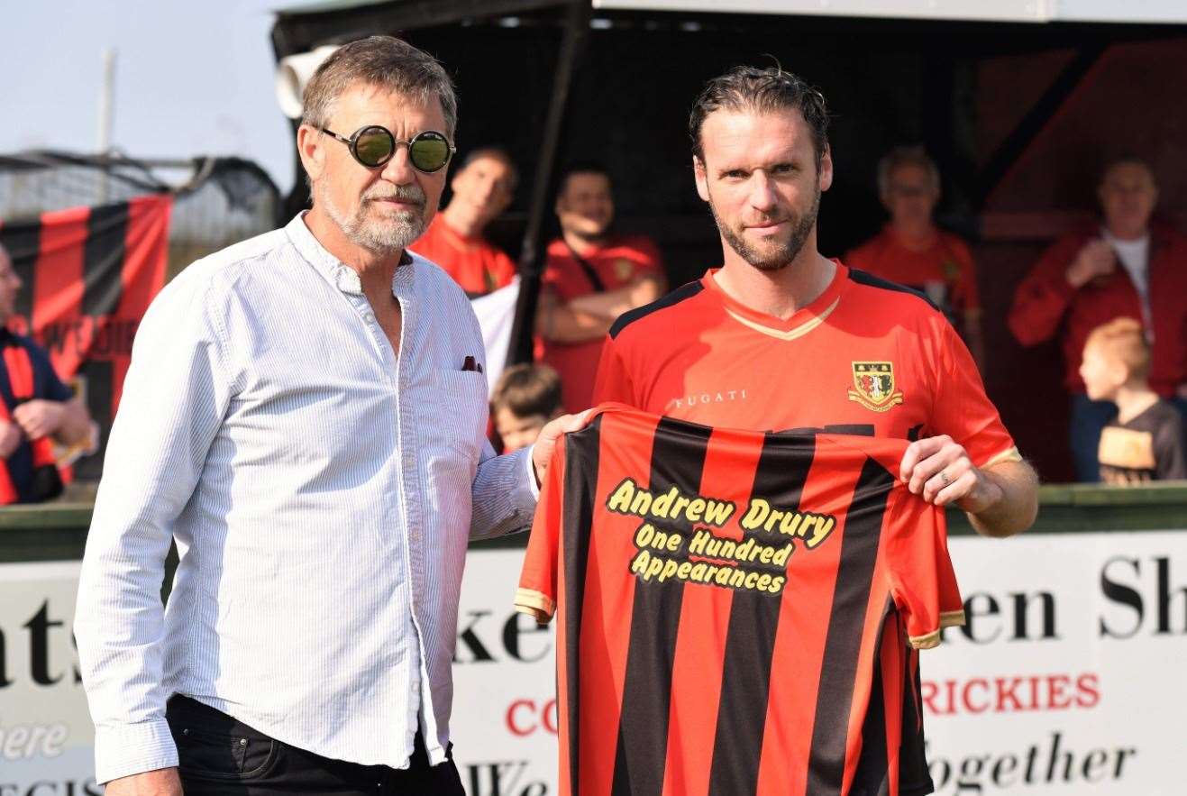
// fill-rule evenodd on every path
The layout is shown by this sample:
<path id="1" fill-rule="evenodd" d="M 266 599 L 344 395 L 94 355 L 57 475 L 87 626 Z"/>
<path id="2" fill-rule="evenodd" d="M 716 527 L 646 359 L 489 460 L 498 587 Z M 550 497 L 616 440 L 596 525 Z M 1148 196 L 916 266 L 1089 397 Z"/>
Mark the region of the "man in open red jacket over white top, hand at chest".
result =
<path id="1" fill-rule="evenodd" d="M 1097 197 L 1104 223 L 1048 248 L 1018 285 L 1009 316 L 1023 346 L 1061 336 L 1080 481 L 1099 480 L 1100 430 L 1117 411 L 1085 393 L 1080 356 L 1090 331 L 1117 317 L 1141 321 L 1150 343 L 1150 387 L 1187 410 L 1187 240 L 1150 222 L 1159 189 L 1143 160 L 1111 162 Z"/>

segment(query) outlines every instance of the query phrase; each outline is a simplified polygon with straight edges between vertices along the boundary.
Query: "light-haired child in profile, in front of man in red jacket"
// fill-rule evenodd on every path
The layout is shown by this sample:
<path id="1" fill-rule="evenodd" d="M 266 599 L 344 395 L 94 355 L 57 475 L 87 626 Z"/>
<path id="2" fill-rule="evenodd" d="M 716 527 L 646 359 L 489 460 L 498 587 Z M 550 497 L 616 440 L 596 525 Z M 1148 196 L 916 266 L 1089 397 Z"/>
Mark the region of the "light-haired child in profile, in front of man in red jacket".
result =
<path id="1" fill-rule="evenodd" d="M 1150 390 L 1149 369 L 1150 349 L 1134 318 L 1097 327 L 1084 345 L 1080 378 L 1088 398 L 1117 404 L 1097 451 L 1105 484 L 1187 479 L 1182 418 Z"/>

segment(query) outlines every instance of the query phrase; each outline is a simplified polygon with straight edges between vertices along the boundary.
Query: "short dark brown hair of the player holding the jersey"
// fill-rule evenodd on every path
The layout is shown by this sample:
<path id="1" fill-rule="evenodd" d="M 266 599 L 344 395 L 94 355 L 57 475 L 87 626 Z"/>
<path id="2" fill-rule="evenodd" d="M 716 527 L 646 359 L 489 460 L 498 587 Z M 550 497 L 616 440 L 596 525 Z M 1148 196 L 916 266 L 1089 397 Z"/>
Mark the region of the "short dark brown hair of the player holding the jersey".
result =
<path id="1" fill-rule="evenodd" d="M 812 131 L 817 166 L 829 150 L 829 106 L 824 94 L 779 67 L 767 69 L 735 67 L 705 84 L 688 115 L 692 153 L 699 160 L 705 159 L 700 128 L 704 127 L 709 114 L 722 109 L 762 113 L 799 110 L 804 115 L 804 121 L 808 124 L 808 129 Z"/>

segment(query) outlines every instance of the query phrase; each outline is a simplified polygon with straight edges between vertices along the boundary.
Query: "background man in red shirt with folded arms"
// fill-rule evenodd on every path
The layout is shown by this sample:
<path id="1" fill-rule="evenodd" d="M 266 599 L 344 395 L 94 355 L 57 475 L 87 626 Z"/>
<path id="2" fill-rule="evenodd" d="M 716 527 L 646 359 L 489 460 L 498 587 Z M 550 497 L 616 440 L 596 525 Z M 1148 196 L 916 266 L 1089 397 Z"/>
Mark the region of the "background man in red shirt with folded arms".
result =
<path id="1" fill-rule="evenodd" d="M 560 238 L 548 245 L 537 334 L 541 359 L 560 373 L 566 412 L 589 406 L 602 343 L 627 310 L 667 288 L 659 249 L 643 236 L 610 230 L 610 175 L 599 165 L 571 166 L 560 179 Z"/>

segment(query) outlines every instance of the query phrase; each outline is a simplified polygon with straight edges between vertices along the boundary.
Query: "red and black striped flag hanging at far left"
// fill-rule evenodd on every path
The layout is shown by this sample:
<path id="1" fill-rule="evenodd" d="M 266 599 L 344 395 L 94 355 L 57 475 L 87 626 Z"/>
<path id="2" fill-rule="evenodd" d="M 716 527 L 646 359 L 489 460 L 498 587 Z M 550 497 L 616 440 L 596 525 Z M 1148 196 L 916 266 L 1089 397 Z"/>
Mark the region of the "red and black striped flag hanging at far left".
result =
<path id="1" fill-rule="evenodd" d="M 171 196 L 157 194 L 0 225 L 24 283 L 8 328 L 49 350 L 64 381 L 80 383 L 103 443 L 137 327 L 165 284 L 171 207 Z M 101 467 L 93 456 L 76 472 L 97 476 Z"/>

